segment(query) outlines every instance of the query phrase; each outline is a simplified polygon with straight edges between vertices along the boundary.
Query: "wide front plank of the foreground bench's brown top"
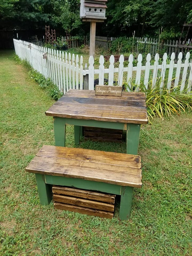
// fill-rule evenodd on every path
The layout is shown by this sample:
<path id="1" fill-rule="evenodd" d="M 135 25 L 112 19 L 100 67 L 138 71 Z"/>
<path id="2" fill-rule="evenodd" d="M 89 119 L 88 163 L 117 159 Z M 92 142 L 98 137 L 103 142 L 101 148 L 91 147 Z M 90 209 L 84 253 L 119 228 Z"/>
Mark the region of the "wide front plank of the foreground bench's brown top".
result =
<path id="1" fill-rule="evenodd" d="M 121 186 L 141 187 L 141 170 L 118 165 L 36 156 L 27 172 L 80 178 Z"/>

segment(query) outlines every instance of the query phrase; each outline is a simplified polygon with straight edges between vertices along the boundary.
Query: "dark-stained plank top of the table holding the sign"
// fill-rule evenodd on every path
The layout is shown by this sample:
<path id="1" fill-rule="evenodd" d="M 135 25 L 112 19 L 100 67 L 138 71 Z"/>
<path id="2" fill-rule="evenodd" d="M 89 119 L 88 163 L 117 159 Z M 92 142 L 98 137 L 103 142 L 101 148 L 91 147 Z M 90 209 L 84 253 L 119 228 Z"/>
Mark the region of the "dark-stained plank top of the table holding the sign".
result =
<path id="1" fill-rule="evenodd" d="M 147 124 L 145 93 L 95 95 L 93 90 L 70 89 L 45 114 L 63 118 Z"/>

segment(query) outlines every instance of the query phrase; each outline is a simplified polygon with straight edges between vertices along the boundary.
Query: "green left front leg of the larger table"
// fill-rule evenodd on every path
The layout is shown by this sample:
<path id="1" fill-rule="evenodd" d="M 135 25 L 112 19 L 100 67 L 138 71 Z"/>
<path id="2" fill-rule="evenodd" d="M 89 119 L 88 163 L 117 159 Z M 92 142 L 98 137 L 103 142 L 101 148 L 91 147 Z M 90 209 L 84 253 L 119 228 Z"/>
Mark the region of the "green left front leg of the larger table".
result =
<path id="1" fill-rule="evenodd" d="M 65 147 L 65 118 L 54 116 L 55 145 Z"/>

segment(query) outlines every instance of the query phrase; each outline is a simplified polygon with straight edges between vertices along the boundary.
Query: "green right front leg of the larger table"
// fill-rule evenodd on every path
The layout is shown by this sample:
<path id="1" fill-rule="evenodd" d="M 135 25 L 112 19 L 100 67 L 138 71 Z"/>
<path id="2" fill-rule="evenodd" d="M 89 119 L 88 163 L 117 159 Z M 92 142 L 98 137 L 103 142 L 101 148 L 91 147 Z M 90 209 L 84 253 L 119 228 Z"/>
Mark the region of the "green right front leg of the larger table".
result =
<path id="1" fill-rule="evenodd" d="M 141 124 L 127 124 L 127 154 L 137 155 Z"/>

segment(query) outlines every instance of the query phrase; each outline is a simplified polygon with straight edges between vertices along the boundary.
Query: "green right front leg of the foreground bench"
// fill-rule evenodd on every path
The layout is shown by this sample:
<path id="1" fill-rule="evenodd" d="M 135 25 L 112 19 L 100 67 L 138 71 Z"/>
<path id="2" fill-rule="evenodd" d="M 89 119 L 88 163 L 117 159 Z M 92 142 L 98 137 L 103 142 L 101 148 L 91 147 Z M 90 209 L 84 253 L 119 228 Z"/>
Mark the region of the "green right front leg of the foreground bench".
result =
<path id="1" fill-rule="evenodd" d="M 131 205 L 132 205 L 133 187 L 121 187 L 121 202 L 119 218 L 121 220 L 127 220 L 130 217 Z"/>

